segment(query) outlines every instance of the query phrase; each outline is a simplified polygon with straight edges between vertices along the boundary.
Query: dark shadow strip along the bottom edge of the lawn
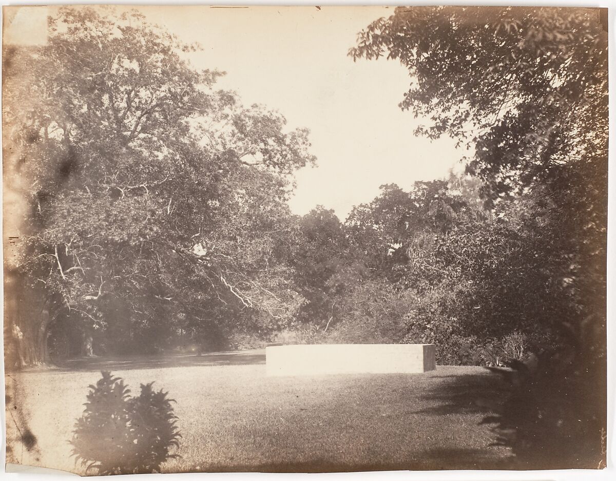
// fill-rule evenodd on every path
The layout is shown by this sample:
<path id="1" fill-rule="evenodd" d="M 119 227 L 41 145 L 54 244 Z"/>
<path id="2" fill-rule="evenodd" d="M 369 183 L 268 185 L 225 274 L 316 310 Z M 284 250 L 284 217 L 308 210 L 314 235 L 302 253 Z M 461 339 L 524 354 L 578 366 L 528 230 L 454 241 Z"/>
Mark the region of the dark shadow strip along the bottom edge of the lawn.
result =
<path id="1" fill-rule="evenodd" d="M 511 469 L 508 459 L 495 459 L 488 450 L 434 449 L 417 453 L 408 462 L 362 464 L 332 463 L 325 459 L 299 463 L 264 463 L 235 466 L 209 466 L 207 469 L 187 469 L 185 472 L 364 472 L 364 471 L 437 471 L 443 469 Z"/>

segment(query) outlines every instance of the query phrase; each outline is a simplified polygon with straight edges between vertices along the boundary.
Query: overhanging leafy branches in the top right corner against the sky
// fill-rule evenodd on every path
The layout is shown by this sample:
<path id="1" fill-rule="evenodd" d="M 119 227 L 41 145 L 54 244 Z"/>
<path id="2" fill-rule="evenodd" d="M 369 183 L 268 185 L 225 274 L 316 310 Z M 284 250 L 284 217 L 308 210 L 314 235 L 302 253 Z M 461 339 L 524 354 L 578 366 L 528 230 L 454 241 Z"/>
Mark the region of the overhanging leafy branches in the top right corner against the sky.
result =
<path id="1" fill-rule="evenodd" d="M 578 158 L 590 169 L 604 163 L 608 57 L 599 10 L 402 7 L 351 49 L 354 59 L 383 54 L 411 73 L 400 106 L 431 118 L 419 133 L 475 143 L 469 169 L 491 199 L 557 179 Z"/>

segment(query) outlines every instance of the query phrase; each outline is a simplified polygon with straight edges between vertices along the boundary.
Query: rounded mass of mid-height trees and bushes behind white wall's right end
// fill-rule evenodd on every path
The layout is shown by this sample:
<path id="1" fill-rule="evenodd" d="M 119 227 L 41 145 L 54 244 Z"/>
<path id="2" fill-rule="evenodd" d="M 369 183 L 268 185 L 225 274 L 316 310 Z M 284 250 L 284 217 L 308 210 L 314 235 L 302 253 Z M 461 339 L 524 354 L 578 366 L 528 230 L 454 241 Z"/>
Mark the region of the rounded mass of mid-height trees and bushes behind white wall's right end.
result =
<path id="1" fill-rule="evenodd" d="M 346 223 L 349 238 L 381 281 L 379 293 L 367 292 L 365 301 L 347 294 L 339 317 L 353 327 L 339 329 L 355 332 L 361 342 L 362 321 L 371 314 L 360 306 L 373 302 L 376 309 L 396 306 L 394 318 L 385 316 L 398 326 L 394 331 L 405 325 L 389 342 L 434 343 L 439 363 L 522 358 L 511 352 L 516 335 L 525 339 L 516 349 L 549 342 L 554 313 L 570 301 L 567 283 L 557 277 L 570 275 L 562 266 L 569 263 L 553 254 L 561 246 L 539 241 L 548 232 L 537 228 L 542 213 L 532 196 L 528 205 L 503 202 L 490 214 L 467 182 L 418 182 L 411 192 L 383 186 L 372 203 L 354 209 Z"/>

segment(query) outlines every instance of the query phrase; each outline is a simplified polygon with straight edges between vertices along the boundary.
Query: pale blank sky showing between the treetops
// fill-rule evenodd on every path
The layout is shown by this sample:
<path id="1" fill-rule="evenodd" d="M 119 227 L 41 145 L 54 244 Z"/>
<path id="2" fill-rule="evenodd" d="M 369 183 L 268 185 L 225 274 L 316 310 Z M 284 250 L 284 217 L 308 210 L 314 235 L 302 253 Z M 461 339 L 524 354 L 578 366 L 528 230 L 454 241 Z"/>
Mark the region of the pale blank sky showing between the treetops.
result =
<path id="1" fill-rule="evenodd" d="M 120 7 L 122 8 L 122 7 Z M 415 180 L 447 175 L 465 152 L 452 139 L 430 141 L 413 131 L 428 119 L 398 107 L 408 71 L 386 59 L 348 57 L 357 33 L 387 7 L 139 7 L 185 42 L 197 68 L 227 72 L 218 84 L 245 105 L 280 111 L 290 129 L 307 127 L 315 168 L 297 172 L 291 211 L 321 204 L 344 220 L 352 206 L 370 202 L 383 184 L 410 188 Z M 30 10 L 30 9 L 29 9 Z M 42 9 L 41 9 L 42 10 Z M 25 15 L 30 24 L 33 12 Z"/>

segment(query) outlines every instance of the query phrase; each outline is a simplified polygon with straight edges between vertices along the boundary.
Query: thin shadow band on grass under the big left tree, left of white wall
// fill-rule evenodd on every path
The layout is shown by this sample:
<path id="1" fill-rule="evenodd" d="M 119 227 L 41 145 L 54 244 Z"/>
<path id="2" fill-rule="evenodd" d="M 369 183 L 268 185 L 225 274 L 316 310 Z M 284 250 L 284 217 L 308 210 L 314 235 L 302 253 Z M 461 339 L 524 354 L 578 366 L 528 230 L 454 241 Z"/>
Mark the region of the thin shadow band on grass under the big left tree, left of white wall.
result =
<path id="1" fill-rule="evenodd" d="M 195 366 L 241 366 L 265 364 L 265 350 L 213 352 L 203 355 L 169 354 L 139 357 L 89 357 L 57 362 L 49 371 L 118 371 Z"/>

